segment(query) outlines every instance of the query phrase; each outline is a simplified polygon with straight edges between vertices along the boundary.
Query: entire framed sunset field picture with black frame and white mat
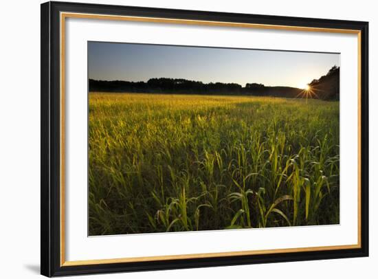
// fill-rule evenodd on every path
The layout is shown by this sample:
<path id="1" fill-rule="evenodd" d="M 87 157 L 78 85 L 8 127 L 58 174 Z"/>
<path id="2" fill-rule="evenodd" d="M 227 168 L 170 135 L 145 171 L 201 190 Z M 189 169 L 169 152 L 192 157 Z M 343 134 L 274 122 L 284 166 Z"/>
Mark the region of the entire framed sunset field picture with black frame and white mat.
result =
<path id="1" fill-rule="evenodd" d="M 368 23 L 41 5 L 41 274 L 368 256 Z"/>

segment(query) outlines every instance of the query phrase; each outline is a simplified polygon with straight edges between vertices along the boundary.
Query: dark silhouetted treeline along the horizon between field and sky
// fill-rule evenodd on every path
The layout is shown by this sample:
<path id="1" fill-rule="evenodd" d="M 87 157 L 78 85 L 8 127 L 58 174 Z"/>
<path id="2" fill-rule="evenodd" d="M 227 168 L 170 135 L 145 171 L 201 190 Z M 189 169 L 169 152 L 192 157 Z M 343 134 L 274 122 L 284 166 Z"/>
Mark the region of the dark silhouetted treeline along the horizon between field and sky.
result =
<path id="1" fill-rule="evenodd" d="M 315 89 L 312 98 L 338 100 L 339 67 L 333 67 L 326 76 L 313 80 L 309 85 Z M 303 89 L 296 87 L 267 87 L 260 83 L 247 83 L 245 87 L 237 83 L 186 80 L 183 78 L 151 78 L 147 82 L 131 82 L 124 80 L 92 80 L 89 79 L 89 91 L 100 92 L 135 92 L 135 93 L 185 93 L 199 95 L 245 95 L 274 96 L 284 98 L 300 97 Z"/>

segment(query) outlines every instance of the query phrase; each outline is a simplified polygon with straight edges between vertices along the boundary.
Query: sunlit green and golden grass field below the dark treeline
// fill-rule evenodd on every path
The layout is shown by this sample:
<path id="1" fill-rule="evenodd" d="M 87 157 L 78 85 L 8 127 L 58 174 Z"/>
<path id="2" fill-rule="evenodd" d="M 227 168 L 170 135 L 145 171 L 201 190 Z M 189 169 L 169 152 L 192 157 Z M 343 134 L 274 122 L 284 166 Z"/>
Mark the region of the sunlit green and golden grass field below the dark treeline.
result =
<path id="1" fill-rule="evenodd" d="M 89 235 L 339 223 L 339 102 L 89 93 Z"/>

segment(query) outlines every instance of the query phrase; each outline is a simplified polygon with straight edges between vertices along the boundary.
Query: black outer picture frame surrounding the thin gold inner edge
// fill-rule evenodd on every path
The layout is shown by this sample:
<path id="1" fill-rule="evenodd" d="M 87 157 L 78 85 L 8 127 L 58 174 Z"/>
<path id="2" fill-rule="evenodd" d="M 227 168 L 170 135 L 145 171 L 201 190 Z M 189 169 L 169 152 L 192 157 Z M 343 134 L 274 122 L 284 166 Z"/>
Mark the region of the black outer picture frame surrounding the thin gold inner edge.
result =
<path id="1" fill-rule="evenodd" d="M 61 265 L 60 243 L 60 12 L 144 16 L 165 19 L 254 23 L 293 27 L 357 30 L 361 36 L 360 58 L 360 230 L 361 247 L 310 252 L 219 256 L 135 263 Z M 41 274 L 67 276 L 123 271 L 182 269 L 297 260 L 321 260 L 368 256 L 368 22 L 307 19 L 289 16 L 234 14 L 194 10 L 140 8 L 119 5 L 47 2 L 41 4 Z"/>

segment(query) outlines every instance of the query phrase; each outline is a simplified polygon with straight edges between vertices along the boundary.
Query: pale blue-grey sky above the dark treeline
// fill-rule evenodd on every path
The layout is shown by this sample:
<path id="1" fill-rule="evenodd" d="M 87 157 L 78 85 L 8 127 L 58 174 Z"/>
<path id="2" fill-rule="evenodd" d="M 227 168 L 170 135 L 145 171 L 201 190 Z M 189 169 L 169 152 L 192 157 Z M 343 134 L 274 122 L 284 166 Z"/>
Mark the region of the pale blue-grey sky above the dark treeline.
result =
<path id="1" fill-rule="evenodd" d="M 88 42 L 88 76 L 95 80 L 185 78 L 304 88 L 333 65 L 340 66 L 340 54 Z"/>

